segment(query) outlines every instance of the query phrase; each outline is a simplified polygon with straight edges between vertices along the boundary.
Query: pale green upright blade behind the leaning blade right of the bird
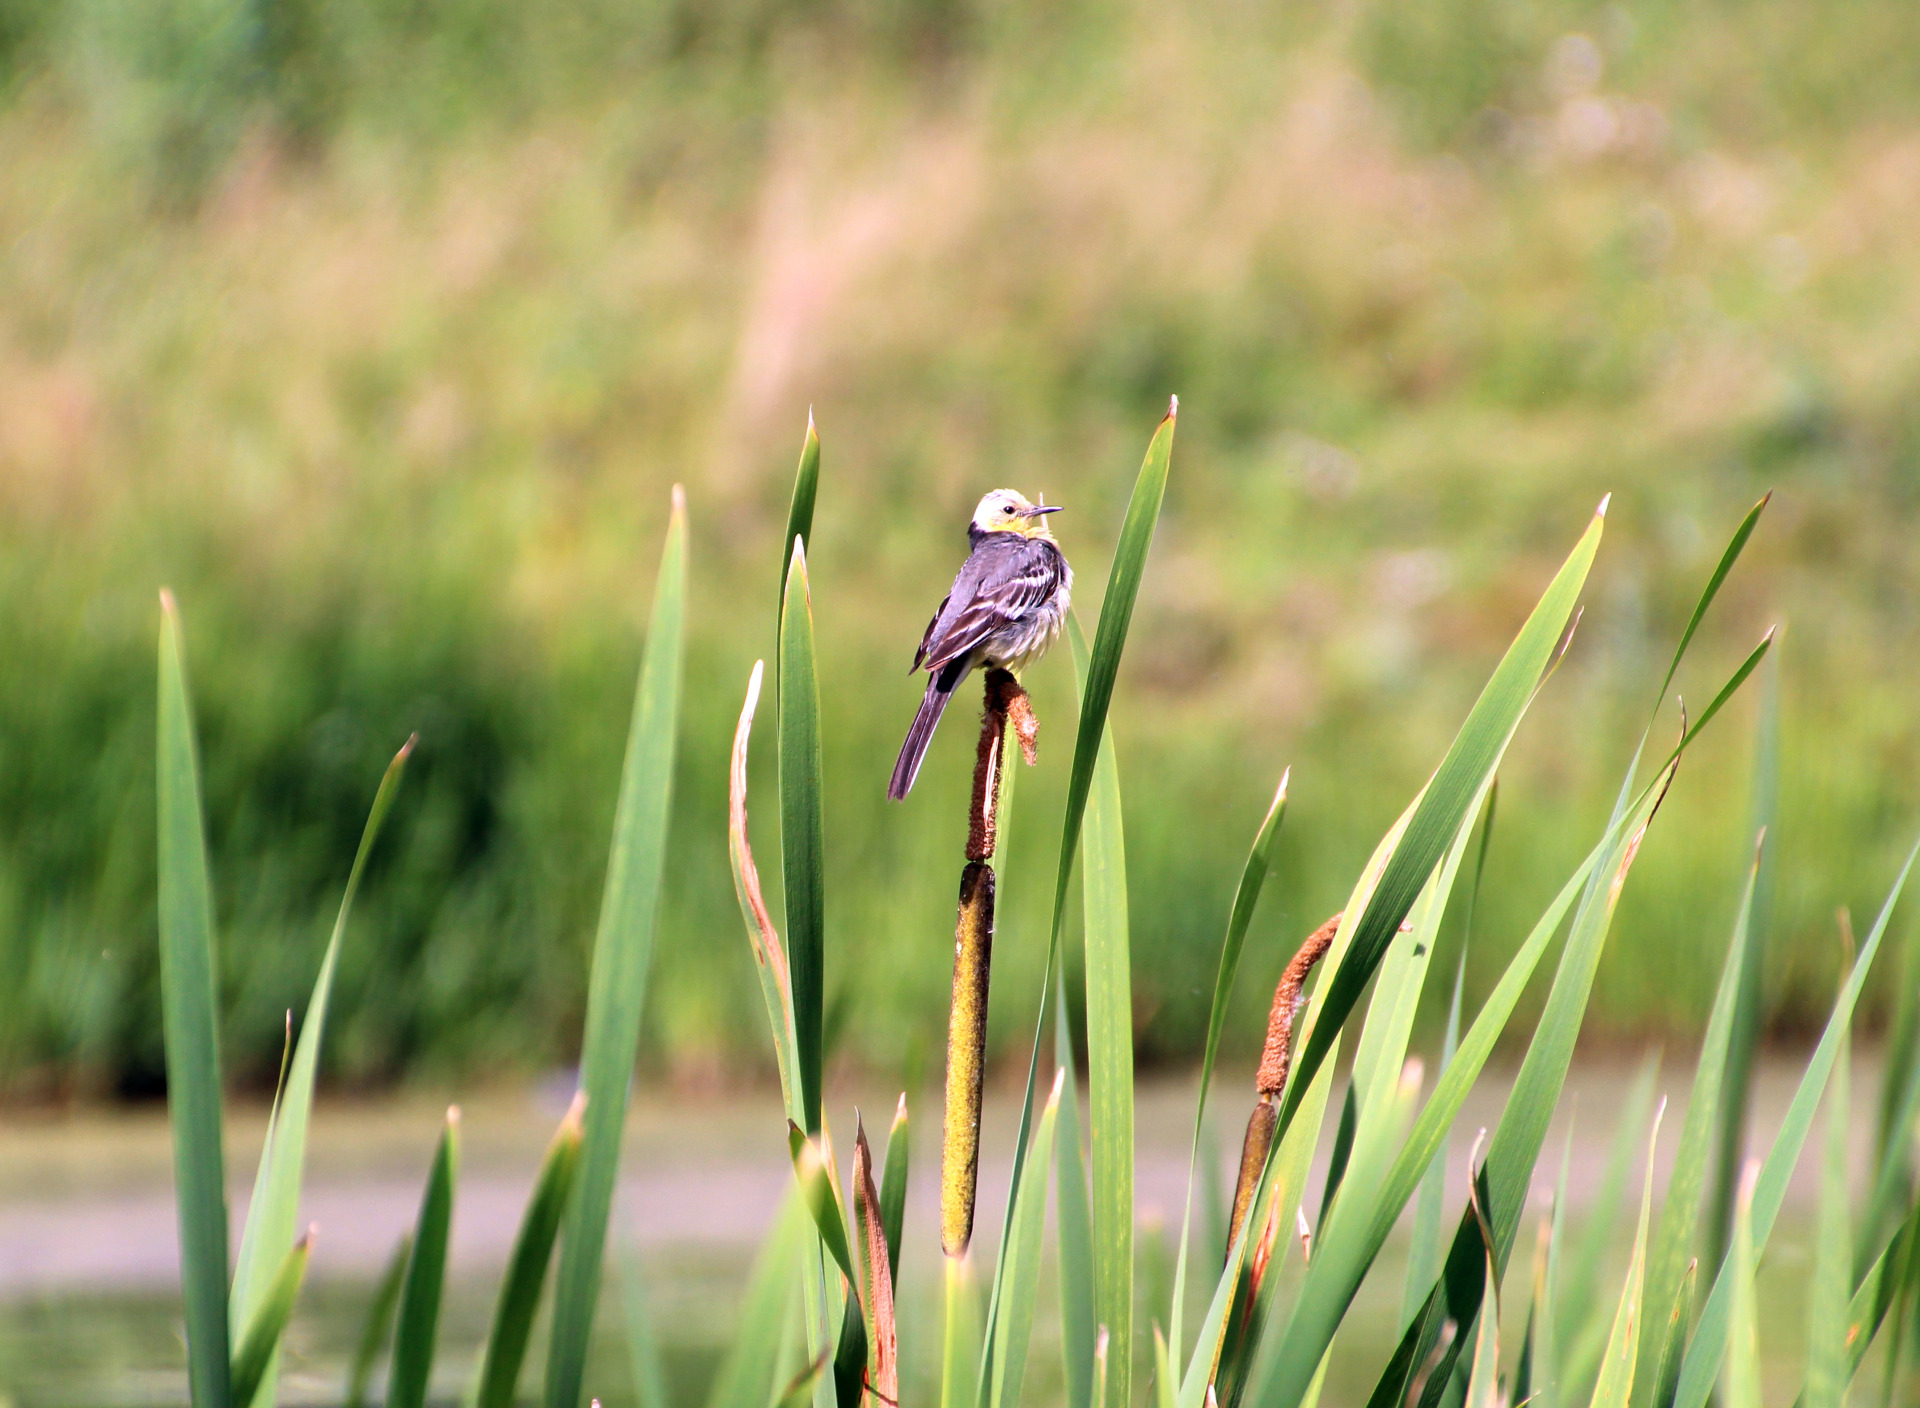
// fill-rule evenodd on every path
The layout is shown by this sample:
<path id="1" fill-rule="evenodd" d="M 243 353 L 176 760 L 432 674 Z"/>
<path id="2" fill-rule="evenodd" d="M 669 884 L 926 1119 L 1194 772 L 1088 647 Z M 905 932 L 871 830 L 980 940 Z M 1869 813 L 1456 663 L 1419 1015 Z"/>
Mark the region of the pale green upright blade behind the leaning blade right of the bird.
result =
<path id="1" fill-rule="evenodd" d="M 1108 1402 L 1133 1402 L 1133 962 L 1119 768 L 1108 732 L 1087 805 L 1087 1108 L 1092 1128 L 1092 1304 L 1106 1325 Z M 1098 1408 L 1098 1406 L 1096 1406 Z"/>

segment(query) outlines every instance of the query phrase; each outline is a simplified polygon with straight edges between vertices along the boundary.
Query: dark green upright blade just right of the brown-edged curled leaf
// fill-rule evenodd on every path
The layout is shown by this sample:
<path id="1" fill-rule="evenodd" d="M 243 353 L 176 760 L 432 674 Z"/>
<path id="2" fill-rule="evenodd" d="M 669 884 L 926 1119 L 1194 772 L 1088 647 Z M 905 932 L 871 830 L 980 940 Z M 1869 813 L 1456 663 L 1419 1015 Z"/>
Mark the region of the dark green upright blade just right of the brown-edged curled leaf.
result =
<path id="1" fill-rule="evenodd" d="M 820 814 L 820 682 L 806 549 L 793 540 L 787 609 L 780 617 L 780 878 L 787 891 L 793 1049 L 801 1124 L 820 1133 L 826 841 Z"/>

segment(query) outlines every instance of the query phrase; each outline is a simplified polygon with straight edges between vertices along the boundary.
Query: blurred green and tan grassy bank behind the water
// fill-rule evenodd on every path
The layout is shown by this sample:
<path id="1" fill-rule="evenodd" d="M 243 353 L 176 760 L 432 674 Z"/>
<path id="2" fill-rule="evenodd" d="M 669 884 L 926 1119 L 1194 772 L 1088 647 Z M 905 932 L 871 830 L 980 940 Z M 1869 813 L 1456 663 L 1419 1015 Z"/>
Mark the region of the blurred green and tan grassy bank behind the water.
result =
<path id="1" fill-rule="evenodd" d="M 1196 1051 L 1281 768 L 1248 1049 L 1283 949 L 1605 492 L 1469 972 L 1578 859 L 1699 580 L 1772 488 L 1682 690 L 1786 622 L 1768 995 L 1776 1030 L 1812 1018 L 1920 747 L 1916 48 L 1895 0 L 0 0 L 0 1097 L 161 1081 L 161 584 L 228 1062 L 271 1081 L 413 730 L 330 1080 L 570 1060 L 676 480 L 695 636 L 647 1060 L 766 1078 L 726 745 L 808 407 L 843 1060 L 939 1060 L 968 726 L 906 807 L 883 788 L 960 526 L 996 484 L 1069 505 L 1091 620 L 1167 392 L 1116 707 L 1142 1060 Z M 1066 670 L 1033 678 L 1002 1055 L 1031 1030 Z M 1599 1039 L 1705 1010 L 1751 734 L 1743 699 L 1680 778 Z"/>

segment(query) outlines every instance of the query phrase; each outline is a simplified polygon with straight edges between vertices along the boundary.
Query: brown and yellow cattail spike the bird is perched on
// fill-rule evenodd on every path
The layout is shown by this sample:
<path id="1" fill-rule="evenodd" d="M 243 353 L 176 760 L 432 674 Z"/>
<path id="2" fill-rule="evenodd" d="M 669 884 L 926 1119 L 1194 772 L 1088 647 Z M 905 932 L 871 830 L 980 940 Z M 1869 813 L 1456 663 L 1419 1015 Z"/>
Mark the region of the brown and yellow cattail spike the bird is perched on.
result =
<path id="1" fill-rule="evenodd" d="M 1000 824 L 1000 778 L 1012 732 L 1027 763 L 1039 724 L 1020 680 L 987 670 L 968 807 L 966 870 L 960 872 L 960 916 L 954 924 L 954 1001 L 947 1020 L 947 1129 L 941 1143 L 941 1247 L 966 1254 L 973 1239 L 973 1195 L 979 1183 L 979 1101 L 987 1058 L 987 976 L 993 964 L 993 851 Z"/>

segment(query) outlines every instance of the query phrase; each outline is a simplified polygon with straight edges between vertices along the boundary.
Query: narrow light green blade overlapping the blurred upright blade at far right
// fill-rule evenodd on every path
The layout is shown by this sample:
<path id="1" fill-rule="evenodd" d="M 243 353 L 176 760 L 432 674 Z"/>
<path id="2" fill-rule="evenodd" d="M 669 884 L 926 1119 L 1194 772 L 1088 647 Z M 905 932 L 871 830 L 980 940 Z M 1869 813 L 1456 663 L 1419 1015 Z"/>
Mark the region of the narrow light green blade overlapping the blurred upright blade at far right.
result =
<path id="1" fill-rule="evenodd" d="M 1668 1314 L 1680 1295 L 1682 1281 L 1697 1279 L 1699 1272 L 1690 1270 L 1697 1258 L 1693 1254 L 1701 1195 L 1707 1187 L 1707 1156 L 1713 1149 L 1715 1129 L 1718 1129 L 1720 1085 L 1726 1072 L 1726 1055 L 1732 1045 L 1734 1010 L 1740 1001 L 1741 974 L 1745 972 L 1745 951 L 1749 918 L 1753 914 L 1753 882 L 1759 874 L 1759 847 L 1766 843 L 1761 836 L 1755 841 L 1753 864 L 1747 868 L 1747 884 L 1740 895 L 1740 910 L 1734 918 L 1734 937 L 1726 947 L 1726 960 L 1720 966 L 1720 987 L 1713 997 L 1713 1012 L 1707 1018 L 1707 1035 L 1699 1043 L 1699 1064 L 1693 1068 L 1693 1093 L 1686 1103 L 1686 1120 L 1680 1124 L 1680 1147 L 1674 1151 L 1672 1170 L 1667 1174 L 1667 1199 L 1661 1204 L 1659 1233 L 1653 1237 L 1653 1254 L 1647 1258 L 1647 1306 L 1661 1316 L 1655 1331 L 1663 1341 L 1651 1354 L 1642 1356 L 1636 1375 L 1634 1402 L 1645 1406 L 1657 1389 L 1655 1372 L 1665 1372 L 1686 1343 L 1686 1316 Z"/>

